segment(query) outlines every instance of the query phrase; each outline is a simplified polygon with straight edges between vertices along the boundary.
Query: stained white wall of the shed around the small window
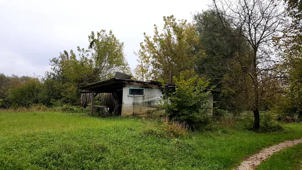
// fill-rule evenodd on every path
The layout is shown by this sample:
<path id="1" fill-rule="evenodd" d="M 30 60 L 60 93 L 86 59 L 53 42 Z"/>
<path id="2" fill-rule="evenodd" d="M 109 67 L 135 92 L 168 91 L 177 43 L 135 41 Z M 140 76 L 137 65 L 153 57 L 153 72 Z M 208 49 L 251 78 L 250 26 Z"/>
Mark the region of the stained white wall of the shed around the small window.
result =
<path id="1" fill-rule="evenodd" d="M 128 95 L 129 88 L 144 88 L 144 95 Z M 152 111 L 163 112 L 159 108 L 158 98 L 163 96 L 160 88 L 146 88 L 134 84 L 125 84 L 123 87 L 123 102 L 121 116 L 143 116 Z"/>

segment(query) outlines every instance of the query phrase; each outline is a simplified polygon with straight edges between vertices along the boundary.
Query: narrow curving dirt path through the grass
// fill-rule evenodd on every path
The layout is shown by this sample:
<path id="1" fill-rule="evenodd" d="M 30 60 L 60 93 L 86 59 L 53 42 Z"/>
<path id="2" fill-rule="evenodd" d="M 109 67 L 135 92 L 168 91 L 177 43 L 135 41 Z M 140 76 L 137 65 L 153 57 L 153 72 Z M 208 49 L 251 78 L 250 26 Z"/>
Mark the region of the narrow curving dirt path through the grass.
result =
<path id="1" fill-rule="evenodd" d="M 293 141 L 285 141 L 280 144 L 265 148 L 260 152 L 254 154 L 252 157 L 247 158 L 243 161 L 235 170 L 252 170 L 255 169 L 262 161 L 269 158 L 273 153 L 278 152 L 284 148 L 302 143 L 301 139 L 296 139 Z"/>

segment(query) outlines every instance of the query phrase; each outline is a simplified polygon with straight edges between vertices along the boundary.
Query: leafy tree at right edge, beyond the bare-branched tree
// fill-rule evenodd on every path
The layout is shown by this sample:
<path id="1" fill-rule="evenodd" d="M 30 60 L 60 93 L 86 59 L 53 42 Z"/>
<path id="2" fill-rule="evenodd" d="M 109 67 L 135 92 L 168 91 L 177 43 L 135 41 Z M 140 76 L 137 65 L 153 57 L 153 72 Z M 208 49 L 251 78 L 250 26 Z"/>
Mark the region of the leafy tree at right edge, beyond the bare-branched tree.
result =
<path id="1" fill-rule="evenodd" d="M 276 45 L 283 59 L 286 74 L 285 102 L 281 103 L 281 117 L 302 120 L 302 1 L 286 0 L 286 14 L 290 18 L 283 35 L 276 37 Z"/>

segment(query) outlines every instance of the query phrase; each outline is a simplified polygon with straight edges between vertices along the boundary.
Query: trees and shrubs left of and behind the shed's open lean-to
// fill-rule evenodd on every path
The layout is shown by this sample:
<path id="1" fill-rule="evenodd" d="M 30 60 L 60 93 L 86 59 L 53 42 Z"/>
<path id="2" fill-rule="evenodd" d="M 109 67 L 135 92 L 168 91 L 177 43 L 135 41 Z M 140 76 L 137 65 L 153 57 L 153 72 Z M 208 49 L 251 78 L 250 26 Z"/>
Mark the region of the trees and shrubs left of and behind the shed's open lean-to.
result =
<path id="1" fill-rule="evenodd" d="M 77 47 L 75 53 L 64 50 L 50 60 L 51 71 L 45 77 L 0 75 L 0 108 L 80 105 L 79 87 L 112 78 L 116 71 L 130 73 L 123 42 L 109 31 L 92 32 L 89 48 Z"/>

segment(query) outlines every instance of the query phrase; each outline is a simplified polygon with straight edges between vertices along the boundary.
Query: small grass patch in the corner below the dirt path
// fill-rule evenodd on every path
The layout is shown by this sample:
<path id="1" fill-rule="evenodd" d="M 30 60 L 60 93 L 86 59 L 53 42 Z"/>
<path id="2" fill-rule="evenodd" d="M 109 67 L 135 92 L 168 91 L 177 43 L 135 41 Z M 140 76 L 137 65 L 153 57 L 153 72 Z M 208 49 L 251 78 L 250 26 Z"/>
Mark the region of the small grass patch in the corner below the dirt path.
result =
<path id="1" fill-rule="evenodd" d="M 302 169 L 302 144 L 286 148 L 262 162 L 257 170 L 298 170 Z"/>

